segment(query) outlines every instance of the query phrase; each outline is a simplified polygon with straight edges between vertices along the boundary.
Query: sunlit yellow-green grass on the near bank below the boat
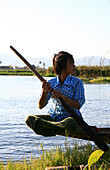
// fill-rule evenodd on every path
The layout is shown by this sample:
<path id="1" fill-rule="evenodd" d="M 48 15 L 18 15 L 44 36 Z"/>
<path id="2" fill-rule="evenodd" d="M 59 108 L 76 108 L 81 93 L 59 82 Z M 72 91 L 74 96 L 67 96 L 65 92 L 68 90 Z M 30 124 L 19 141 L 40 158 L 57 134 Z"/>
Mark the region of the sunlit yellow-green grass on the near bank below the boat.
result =
<path id="1" fill-rule="evenodd" d="M 38 149 L 38 148 L 37 148 Z M 40 146 L 38 158 L 32 157 L 30 160 L 24 159 L 22 162 L 17 161 L 7 161 L 7 164 L 4 165 L 0 162 L 0 169 L 10 169 L 10 170 L 45 170 L 46 167 L 52 166 L 74 166 L 74 165 L 87 165 L 89 155 L 95 150 L 95 147 L 92 147 L 91 144 L 86 146 L 80 145 L 78 143 L 73 143 L 70 145 L 67 140 L 65 141 L 65 146 L 61 145 L 52 146 L 49 151 L 44 151 L 43 143 Z M 97 163 L 99 167 L 100 164 L 106 166 L 107 162 L 110 162 L 110 150 L 106 152 L 102 158 Z M 108 170 L 104 168 L 103 170 Z"/>

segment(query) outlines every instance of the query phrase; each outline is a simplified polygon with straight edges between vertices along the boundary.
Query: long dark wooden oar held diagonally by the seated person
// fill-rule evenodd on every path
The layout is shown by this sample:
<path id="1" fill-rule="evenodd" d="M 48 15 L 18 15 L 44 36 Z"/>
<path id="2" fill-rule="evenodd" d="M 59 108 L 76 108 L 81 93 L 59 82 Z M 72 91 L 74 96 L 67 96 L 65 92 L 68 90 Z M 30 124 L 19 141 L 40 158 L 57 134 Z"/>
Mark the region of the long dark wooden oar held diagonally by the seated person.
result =
<path id="1" fill-rule="evenodd" d="M 32 70 L 32 72 L 40 79 L 41 82 L 45 79 L 35 70 L 35 68 L 12 46 L 10 48 L 20 57 L 20 59 Z M 52 89 L 53 91 L 54 89 Z M 70 114 L 70 116 L 77 122 L 77 124 L 88 134 L 92 141 L 103 151 L 108 151 L 109 147 L 103 141 L 103 139 L 93 130 L 91 127 L 80 117 L 78 116 L 71 107 L 60 97 L 59 98 L 62 106 Z"/>

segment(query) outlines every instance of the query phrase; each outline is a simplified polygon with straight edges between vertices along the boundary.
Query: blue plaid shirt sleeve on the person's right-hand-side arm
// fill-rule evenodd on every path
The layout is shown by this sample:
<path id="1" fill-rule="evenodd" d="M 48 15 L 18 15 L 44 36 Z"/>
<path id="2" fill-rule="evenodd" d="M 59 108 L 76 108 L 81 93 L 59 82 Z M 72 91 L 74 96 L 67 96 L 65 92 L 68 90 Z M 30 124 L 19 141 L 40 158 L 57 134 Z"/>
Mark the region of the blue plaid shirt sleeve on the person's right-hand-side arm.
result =
<path id="1" fill-rule="evenodd" d="M 74 90 L 75 90 L 74 100 L 78 100 L 81 108 L 82 105 L 85 103 L 84 86 L 81 79 L 77 81 Z"/>

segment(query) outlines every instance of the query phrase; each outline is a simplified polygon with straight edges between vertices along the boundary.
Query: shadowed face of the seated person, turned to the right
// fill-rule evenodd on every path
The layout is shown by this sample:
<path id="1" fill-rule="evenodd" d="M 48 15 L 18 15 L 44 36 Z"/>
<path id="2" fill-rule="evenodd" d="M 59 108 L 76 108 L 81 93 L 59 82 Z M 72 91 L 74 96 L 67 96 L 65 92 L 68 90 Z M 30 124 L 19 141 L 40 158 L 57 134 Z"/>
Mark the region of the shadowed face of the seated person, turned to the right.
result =
<path id="1" fill-rule="evenodd" d="M 67 68 L 66 68 L 66 72 L 68 74 L 74 74 L 75 72 L 75 65 L 74 65 L 74 60 L 68 60 L 67 61 Z"/>

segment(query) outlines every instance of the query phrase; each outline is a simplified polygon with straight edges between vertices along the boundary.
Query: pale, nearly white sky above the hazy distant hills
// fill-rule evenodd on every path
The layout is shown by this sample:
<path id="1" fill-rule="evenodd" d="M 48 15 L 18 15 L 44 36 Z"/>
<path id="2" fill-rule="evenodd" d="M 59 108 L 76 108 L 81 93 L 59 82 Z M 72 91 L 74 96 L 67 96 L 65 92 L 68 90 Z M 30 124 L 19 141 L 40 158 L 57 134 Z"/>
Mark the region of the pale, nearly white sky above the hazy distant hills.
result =
<path id="1" fill-rule="evenodd" d="M 109 0 L 0 0 L 0 53 L 110 58 Z M 107 55 L 106 55 L 107 54 Z"/>

